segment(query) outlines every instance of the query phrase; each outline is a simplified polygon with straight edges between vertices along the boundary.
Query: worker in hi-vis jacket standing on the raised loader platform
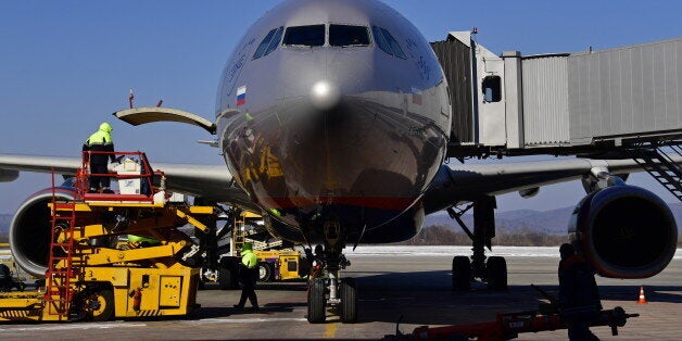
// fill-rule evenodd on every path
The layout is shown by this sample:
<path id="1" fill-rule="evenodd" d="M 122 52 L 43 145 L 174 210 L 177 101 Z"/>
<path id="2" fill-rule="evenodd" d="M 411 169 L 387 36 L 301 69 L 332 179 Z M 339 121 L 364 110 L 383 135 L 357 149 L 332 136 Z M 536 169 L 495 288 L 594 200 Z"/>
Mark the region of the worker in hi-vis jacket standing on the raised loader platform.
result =
<path id="1" fill-rule="evenodd" d="M 116 161 L 116 156 L 114 155 L 114 142 L 111 138 L 112 130 L 111 125 L 104 122 L 100 125 L 100 129 L 90 135 L 85 143 L 83 143 L 84 152 L 96 152 L 90 154 L 88 159 L 90 162 L 90 174 L 106 174 L 109 173 L 106 168 L 108 159 L 111 160 L 112 163 Z M 110 181 L 108 176 L 91 175 L 90 192 L 93 193 L 101 190 L 102 193 L 113 193 L 110 189 Z"/>

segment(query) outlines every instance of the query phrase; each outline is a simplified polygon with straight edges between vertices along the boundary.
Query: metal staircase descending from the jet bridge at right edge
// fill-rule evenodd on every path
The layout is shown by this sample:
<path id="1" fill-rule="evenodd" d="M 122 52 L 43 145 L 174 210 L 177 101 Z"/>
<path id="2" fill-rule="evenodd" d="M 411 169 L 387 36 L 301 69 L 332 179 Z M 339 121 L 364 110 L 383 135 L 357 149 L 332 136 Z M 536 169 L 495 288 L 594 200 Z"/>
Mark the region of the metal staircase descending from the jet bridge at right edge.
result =
<path id="1" fill-rule="evenodd" d="M 629 150 L 631 157 L 680 201 L 682 201 L 682 168 L 672 157 L 675 155 L 682 157 L 681 143 L 682 141 L 666 144 L 647 142 Z M 664 148 L 669 152 L 666 153 Z"/>

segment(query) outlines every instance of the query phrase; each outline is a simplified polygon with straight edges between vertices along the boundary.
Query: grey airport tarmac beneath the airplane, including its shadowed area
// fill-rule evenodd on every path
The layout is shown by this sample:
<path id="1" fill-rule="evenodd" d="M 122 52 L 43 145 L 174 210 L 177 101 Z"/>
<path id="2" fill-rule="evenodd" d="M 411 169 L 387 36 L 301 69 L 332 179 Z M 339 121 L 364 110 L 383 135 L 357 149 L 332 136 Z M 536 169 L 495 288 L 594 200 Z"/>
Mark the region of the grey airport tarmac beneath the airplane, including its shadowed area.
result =
<path id="1" fill-rule="evenodd" d="M 451 290 L 452 256 L 469 248 L 412 247 L 358 248 L 349 252 L 353 263 L 342 276 L 355 277 L 359 288 L 358 321 L 341 324 L 328 314 L 328 323 L 311 325 L 305 319 L 304 281 L 262 283 L 256 288 L 261 311 L 237 310 L 240 291 L 209 287 L 198 294 L 201 308 L 187 317 L 116 320 L 111 323 L 0 325 L 1 340 L 131 340 L 220 339 L 377 340 L 418 326 L 447 326 L 494 320 L 496 313 L 536 310 L 543 298 L 530 283 L 551 293 L 557 291 L 558 248 L 497 248 L 508 266 L 509 290 L 492 292 L 475 285 L 469 292 Z M 521 250 L 522 249 L 522 250 Z M 612 337 L 610 328 L 592 328 L 603 340 L 682 339 L 682 253 L 661 274 L 643 280 L 597 277 L 604 308 L 622 306 L 631 318 Z M 636 304 L 644 286 L 648 304 Z M 566 330 L 519 334 L 517 340 L 567 340 Z"/>

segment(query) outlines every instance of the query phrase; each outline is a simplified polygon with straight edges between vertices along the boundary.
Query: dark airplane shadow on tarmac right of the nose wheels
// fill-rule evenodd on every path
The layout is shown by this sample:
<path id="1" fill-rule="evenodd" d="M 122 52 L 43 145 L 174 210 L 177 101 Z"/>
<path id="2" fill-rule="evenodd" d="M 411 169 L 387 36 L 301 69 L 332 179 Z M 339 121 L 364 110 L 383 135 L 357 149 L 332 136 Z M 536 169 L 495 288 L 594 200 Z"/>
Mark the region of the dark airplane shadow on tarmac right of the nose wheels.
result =
<path id="1" fill-rule="evenodd" d="M 450 271 L 383 273 L 357 277 L 358 323 L 441 325 L 494 320 L 497 313 L 536 311 L 544 298 L 529 286 L 509 286 L 508 291 L 490 291 L 473 283 L 470 291 L 453 291 Z M 541 286 L 556 296 L 557 286 Z M 645 287 L 648 302 L 682 303 L 682 286 Z M 604 308 L 610 301 L 636 302 L 640 286 L 601 286 Z"/>

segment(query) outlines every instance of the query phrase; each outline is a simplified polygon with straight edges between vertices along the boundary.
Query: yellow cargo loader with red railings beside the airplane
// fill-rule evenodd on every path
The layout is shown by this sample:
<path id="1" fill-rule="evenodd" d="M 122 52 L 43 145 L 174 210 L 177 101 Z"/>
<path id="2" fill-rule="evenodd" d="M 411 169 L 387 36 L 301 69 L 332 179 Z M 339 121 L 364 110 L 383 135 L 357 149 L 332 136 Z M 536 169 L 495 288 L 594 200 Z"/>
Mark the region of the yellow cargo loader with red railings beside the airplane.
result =
<path id="1" fill-rule="evenodd" d="M 214 207 L 169 202 L 163 173 L 152 171 L 143 153 L 115 154 L 126 157 L 125 172 L 101 176 L 128 187 L 134 179 L 136 189 L 88 192 L 87 155 L 73 188 L 53 184 L 49 249 L 36 251 L 49 258 L 45 283 L 0 293 L 0 321 L 102 321 L 186 315 L 198 306 L 199 268 L 186 262 L 199 248 L 177 228 L 206 230 L 198 217 L 214 215 Z"/>

